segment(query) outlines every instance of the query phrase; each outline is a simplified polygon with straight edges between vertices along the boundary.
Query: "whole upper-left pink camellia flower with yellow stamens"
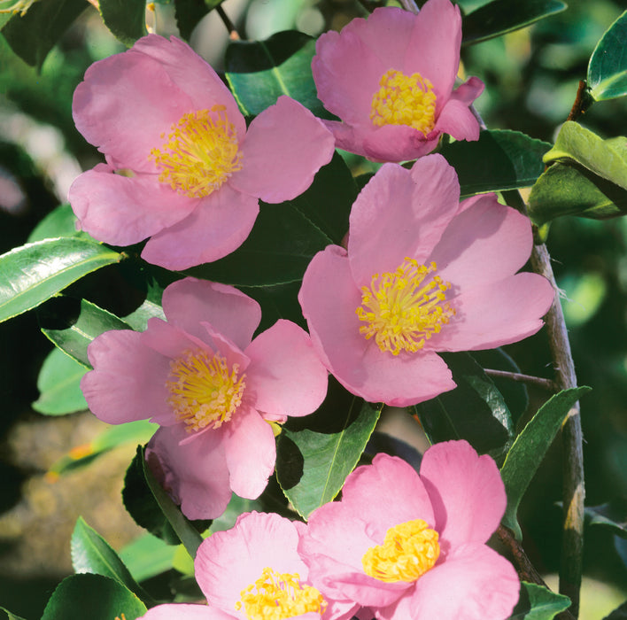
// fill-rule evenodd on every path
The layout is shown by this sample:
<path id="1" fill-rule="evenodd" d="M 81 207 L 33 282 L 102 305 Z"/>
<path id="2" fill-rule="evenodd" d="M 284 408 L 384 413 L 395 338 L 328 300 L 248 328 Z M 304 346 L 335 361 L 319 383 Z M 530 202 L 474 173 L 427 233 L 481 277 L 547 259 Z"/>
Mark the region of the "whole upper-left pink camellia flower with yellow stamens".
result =
<path id="1" fill-rule="evenodd" d="M 107 162 L 70 188 L 81 229 L 113 245 L 150 237 L 143 259 L 169 269 L 236 250 L 259 198 L 295 198 L 334 149 L 329 130 L 290 97 L 246 129 L 212 67 L 175 37 L 145 36 L 90 66 L 73 110 Z"/>

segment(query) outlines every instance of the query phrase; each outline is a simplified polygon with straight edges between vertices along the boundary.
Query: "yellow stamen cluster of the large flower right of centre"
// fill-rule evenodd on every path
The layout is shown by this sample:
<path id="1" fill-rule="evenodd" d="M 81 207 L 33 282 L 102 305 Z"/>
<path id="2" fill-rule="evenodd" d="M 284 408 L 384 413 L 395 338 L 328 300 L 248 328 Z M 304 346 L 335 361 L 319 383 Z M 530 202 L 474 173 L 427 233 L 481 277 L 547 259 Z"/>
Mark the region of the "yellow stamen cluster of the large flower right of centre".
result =
<path id="1" fill-rule="evenodd" d="M 439 275 L 426 276 L 437 269 L 419 265 L 406 258 L 396 271 L 372 276 L 370 286 L 361 287 L 361 306 L 355 310 L 360 321 L 360 333 L 375 342 L 382 351 L 398 355 L 403 349 L 415 353 L 425 340 L 437 334 L 455 314 L 442 302 L 451 283 Z"/>

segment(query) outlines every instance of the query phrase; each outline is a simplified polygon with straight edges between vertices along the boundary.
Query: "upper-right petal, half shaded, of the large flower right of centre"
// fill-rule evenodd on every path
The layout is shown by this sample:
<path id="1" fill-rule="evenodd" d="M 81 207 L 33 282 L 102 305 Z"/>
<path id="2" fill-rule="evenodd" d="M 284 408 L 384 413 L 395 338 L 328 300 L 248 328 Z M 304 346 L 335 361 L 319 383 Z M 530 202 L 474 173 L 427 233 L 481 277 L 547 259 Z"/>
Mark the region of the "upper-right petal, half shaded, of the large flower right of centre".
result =
<path id="1" fill-rule="evenodd" d="M 453 218 L 430 260 L 458 294 L 515 274 L 529 259 L 532 244 L 529 218 L 488 194 L 475 197 Z"/>

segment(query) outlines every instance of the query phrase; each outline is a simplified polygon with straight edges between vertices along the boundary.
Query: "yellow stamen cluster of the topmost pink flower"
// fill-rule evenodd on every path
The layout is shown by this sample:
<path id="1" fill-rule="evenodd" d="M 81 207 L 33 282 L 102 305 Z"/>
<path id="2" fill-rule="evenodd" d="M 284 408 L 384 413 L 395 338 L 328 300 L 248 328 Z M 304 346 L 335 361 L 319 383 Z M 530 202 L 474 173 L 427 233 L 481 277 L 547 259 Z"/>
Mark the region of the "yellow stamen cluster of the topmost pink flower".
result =
<path id="1" fill-rule="evenodd" d="M 436 94 L 421 74 L 405 75 L 389 69 L 372 97 L 370 120 L 375 127 L 409 125 L 426 136 L 435 125 Z"/>

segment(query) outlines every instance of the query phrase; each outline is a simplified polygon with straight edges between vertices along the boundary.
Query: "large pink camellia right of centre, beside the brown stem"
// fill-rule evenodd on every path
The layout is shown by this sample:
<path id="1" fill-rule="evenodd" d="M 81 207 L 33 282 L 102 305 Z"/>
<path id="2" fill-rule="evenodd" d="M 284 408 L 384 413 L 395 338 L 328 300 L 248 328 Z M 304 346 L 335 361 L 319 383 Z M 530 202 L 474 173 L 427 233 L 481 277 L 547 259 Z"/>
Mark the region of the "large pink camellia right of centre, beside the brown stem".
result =
<path id="1" fill-rule="evenodd" d="M 529 259 L 530 221 L 493 194 L 460 199 L 441 155 L 383 167 L 352 206 L 348 252 L 329 245 L 298 300 L 316 351 L 344 387 L 406 407 L 455 387 L 437 351 L 530 336 L 553 300 Z"/>

